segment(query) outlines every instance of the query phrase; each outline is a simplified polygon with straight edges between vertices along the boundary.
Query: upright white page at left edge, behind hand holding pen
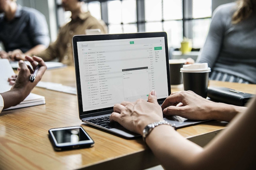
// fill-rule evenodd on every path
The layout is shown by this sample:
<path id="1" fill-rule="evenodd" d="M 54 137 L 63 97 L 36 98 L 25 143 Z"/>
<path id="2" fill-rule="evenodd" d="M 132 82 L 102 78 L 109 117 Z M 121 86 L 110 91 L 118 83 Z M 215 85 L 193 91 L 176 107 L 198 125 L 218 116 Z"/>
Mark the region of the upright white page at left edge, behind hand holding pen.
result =
<path id="1" fill-rule="evenodd" d="M 8 59 L 0 59 L 0 93 L 12 88 L 7 81 L 9 77 L 15 75 Z"/>

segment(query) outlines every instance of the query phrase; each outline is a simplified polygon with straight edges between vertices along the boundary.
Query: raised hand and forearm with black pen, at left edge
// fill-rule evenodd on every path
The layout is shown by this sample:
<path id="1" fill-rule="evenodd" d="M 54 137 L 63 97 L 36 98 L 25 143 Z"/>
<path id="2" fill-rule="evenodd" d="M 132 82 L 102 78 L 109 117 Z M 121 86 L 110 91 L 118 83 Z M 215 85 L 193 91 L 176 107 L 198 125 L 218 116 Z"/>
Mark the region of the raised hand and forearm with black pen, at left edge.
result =
<path id="1" fill-rule="evenodd" d="M 11 106 L 16 106 L 21 101 L 23 101 L 31 92 L 31 90 L 37 85 L 37 83 L 41 80 L 42 75 L 47 69 L 45 62 L 37 56 L 26 56 L 26 60 L 28 60 L 32 67 L 35 69 L 37 65 L 39 65 L 39 70 L 37 72 L 37 77 L 34 82 L 30 82 L 30 76 L 33 73 L 32 69 L 29 69 L 28 66 L 24 63 L 24 61 L 19 61 L 19 74 L 15 77 L 15 83 L 12 86 L 11 90 L 0 93 L 0 113 L 2 109 L 7 109 Z M 10 81 L 10 80 L 9 80 Z"/>

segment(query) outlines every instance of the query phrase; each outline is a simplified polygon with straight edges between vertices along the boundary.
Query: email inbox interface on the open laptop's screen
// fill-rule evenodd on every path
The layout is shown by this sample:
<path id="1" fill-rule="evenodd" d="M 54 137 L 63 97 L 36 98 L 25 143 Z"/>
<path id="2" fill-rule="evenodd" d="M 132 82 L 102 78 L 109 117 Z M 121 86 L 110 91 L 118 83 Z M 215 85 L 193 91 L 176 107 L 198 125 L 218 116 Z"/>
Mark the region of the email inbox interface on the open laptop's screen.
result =
<path id="1" fill-rule="evenodd" d="M 77 42 L 83 112 L 168 96 L 165 37 Z"/>

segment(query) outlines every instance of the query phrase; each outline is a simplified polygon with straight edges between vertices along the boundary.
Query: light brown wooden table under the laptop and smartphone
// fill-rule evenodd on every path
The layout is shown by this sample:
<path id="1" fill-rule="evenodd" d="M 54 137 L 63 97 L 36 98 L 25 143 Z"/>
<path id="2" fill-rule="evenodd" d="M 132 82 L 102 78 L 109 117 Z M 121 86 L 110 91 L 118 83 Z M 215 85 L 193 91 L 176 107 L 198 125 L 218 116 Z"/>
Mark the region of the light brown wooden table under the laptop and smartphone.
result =
<path id="1" fill-rule="evenodd" d="M 42 81 L 75 87 L 74 67 L 47 70 Z M 256 85 L 211 81 L 255 93 Z M 180 91 L 182 88 L 172 88 Z M 46 104 L 2 111 L 0 114 L 0 169 L 146 169 L 159 164 L 139 137 L 125 139 L 83 124 L 78 116 L 77 96 L 36 87 L 33 93 L 45 96 Z M 177 131 L 203 146 L 227 123 L 209 121 Z M 55 152 L 48 130 L 81 125 L 92 137 L 92 148 Z"/>

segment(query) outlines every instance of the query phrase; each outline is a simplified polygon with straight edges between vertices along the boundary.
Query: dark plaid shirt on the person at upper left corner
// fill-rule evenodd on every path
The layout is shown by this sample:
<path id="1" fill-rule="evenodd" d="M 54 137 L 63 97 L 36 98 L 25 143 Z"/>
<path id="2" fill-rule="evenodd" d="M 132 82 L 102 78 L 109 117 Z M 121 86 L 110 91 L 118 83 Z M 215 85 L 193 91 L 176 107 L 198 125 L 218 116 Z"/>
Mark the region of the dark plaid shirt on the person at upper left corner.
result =
<path id="1" fill-rule="evenodd" d="M 20 49 L 25 53 L 39 44 L 48 47 L 50 38 L 45 16 L 36 9 L 18 5 L 13 20 L 0 17 L 0 41 L 7 52 Z"/>

